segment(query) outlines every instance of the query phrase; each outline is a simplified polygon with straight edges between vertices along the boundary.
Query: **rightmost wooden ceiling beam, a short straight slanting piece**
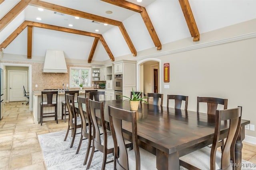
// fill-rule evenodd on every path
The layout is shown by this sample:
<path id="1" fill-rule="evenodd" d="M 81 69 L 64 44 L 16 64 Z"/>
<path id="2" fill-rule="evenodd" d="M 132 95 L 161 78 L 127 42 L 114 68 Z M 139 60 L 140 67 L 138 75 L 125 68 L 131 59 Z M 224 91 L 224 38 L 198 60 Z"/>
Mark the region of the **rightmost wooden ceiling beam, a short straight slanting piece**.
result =
<path id="1" fill-rule="evenodd" d="M 190 31 L 190 34 L 193 38 L 193 41 L 199 41 L 200 40 L 200 34 L 196 25 L 196 21 L 194 18 L 194 15 L 192 13 L 192 10 L 190 8 L 190 4 L 188 0 L 179 0 L 180 6 L 182 9 L 182 12 L 184 14 L 185 20 L 188 25 L 188 29 Z"/>

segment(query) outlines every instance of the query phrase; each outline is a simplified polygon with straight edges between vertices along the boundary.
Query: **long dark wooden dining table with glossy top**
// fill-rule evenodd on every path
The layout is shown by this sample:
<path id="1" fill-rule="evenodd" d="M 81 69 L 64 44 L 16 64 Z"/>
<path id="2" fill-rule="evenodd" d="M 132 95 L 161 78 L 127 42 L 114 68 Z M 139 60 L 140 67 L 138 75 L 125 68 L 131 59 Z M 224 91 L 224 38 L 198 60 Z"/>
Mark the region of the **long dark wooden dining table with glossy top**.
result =
<path id="1" fill-rule="evenodd" d="M 130 110 L 129 101 L 104 101 L 104 118 L 109 122 L 108 106 Z M 76 105 L 77 107 L 77 105 Z M 242 141 L 244 126 L 250 121 L 242 119 L 240 133 L 236 141 L 235 162 L 242 162 Z M 131 135 L 131 124 L 123 122 L 124 133 Z M 229 123 L 221 125 L 220 139 L 228 133 Z M 179 170 L 179 157 L 194 150 L 212 144 L 215 116 L 195 111 L 185 111 L 160 107 L 152 104 L 140 104 L 137 111 L 138 140 L 144 149 L 156 155 L 158 170 Z M 240 170 L 241 167 L 235 167 Z"/>

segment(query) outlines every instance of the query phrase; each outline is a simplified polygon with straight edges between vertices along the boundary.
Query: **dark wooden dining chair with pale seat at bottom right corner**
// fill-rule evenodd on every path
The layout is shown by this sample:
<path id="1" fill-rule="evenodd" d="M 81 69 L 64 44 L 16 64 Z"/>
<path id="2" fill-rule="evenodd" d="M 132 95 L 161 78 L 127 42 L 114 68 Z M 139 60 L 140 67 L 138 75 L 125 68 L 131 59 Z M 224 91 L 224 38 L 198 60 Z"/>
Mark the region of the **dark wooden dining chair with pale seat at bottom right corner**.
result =
<path id="1" fill-rule="evenodd" d="M 241 115 L 241 107 L 216 110 L 215 130 L 212 147 L 204 147 L 180 157 L 180 165 L 189 170 L 232 169 L 232 164 L 235 163 L 234 150 L 236 139 L 240 130 Z M 217 151 L 217 144 L 220 140 L 221 122 L 227 120 L 229 120 L 229 123 L 226 124 L 229 126 L 228 137 L 226 139 L 224 149 L 221 153 Z"/>

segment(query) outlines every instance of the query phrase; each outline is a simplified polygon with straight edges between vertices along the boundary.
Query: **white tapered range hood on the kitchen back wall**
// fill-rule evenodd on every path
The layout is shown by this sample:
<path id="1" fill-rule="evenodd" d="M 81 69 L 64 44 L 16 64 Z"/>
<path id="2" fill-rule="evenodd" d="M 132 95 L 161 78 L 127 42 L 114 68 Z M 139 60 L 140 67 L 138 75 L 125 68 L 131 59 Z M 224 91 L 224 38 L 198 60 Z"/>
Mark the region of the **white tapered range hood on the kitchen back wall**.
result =
<path id="1" fill-rule="evenodd" d="M 67 73 L 67 65 L 63 51 L 46 50 L 42 72 Z"/>

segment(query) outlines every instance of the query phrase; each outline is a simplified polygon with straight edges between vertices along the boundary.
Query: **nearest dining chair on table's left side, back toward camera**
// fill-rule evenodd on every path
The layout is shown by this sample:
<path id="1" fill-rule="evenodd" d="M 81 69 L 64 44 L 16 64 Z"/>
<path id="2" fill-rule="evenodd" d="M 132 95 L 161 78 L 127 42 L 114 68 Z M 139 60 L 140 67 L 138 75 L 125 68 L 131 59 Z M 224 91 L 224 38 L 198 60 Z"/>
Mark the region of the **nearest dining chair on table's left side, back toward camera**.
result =
<path id="1" fill-rule="evenodd" d="M 138 146 L 136 111 L 127 111 L 113 106 L 108 106 L 108 109 L 110 129 L 114 141 L 114 170 L 156 169 L 156 156 Z M 131 123 L 131 139 L 134 149 L 130 151 L 127 151 L 124 143 L 122 121 Z"/>

